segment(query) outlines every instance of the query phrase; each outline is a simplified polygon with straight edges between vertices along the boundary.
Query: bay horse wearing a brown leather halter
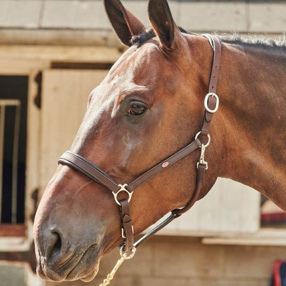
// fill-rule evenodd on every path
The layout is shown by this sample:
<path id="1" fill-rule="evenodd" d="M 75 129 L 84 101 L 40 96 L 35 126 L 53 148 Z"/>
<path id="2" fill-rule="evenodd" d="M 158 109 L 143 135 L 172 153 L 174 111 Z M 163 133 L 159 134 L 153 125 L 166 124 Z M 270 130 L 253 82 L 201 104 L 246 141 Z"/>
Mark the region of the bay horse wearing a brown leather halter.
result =
<path id="1" fill-rule="evenodd" d="M 201 199 L 217 177 L 251 186 L 286 209 L 285 44 L 220 39 L 220 103 L 205 134 L 211 136 L 205 184 L 195 195 L 201 181 L 197 161 L 205 170 L 207 143 L 197 136 L 192 140 L 209 112 L 204 98 L 214 75 L 214 37 L 179 28 L 166 0 L 149 0 L 151 27 L 119 0 L 104 0 L 104 5 L 129 48 L 90 93 L 70 151 L 61 157 L 39 204 L 33 234 L 37 273 L 46 280 L 92 280 L 101 257 L 127 234 L 141 233 L 191 198 Z M 207 100 L 214 98 L 213 92 Z M 191 141 L 196 148 L 167 167 L 169 156 L 189 148 Z M 134 194 L 131 184 L 123 185 L 158 163 L 164 171 L 141 180 Z M 116 192 L 130 201 L 120 211 Z M 124 220 L 127 213 L 132 231 Z M 133 250 L 127 244 L 126 238 L 122 260 L 124 247 Z"/>

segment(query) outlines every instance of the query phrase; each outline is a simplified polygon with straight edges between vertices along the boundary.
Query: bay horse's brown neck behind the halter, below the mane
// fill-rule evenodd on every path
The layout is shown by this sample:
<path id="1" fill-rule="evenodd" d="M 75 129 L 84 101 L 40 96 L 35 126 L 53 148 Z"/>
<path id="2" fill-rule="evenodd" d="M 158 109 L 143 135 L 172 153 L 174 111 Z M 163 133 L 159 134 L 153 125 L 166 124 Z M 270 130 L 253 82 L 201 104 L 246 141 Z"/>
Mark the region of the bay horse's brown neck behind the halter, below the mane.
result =
<path id="1" fill-rule="evenodd" d="M 286 209 L 286 59 L 265 53 L 223 44 L 221 100 L 212 126 L 218 126 L 223 148 L 220 176 Z"/>

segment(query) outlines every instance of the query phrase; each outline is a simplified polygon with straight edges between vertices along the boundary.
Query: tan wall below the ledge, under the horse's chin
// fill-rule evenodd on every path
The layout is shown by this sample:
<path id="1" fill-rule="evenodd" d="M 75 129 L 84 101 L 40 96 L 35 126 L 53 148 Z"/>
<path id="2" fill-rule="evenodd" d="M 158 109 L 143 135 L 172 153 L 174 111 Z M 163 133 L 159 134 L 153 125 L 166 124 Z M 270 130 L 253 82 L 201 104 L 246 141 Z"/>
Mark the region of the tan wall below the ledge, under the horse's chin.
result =
<path id="1" fill-rule="evenodd" d="M 116 249 L 101 262 L 95 286 L 119 258 Z M 272 263 L 286 258 L 285 247 L 212 246 L 199 239 L 157 236 L 124 262 L 111 285 L 125 286 L 268 286 Z M 83 282 L 47 282 L 47 286 L 82 286 Z"/>

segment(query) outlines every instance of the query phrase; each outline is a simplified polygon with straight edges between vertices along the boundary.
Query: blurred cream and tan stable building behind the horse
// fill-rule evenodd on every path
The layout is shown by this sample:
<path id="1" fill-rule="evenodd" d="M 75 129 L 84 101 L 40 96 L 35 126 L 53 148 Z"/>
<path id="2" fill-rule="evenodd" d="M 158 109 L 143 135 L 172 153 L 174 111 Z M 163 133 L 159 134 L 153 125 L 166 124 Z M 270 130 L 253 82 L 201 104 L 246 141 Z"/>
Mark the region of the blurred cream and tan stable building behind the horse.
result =
<path id="1" fill-rule="evenodd" d="M 148 23 L 147 0 L 122 2 Z M 279 39 L 286 30 L 286 1 L 169 4 L 177 24 L 197 33 Z M 0 0 L 1 286 L 84 285 L 35 275 L 33 218 L 89 92 L 124 49 L 101 0 Z M 285 217 L 255 190 L 218 179 L 207 197 L 142 245 L 112 283 L 268 286 L 273 262 L 286 260 Z M 118 258 L 117 249 L 107 255 L 85 285 L 101 283 Z"/>

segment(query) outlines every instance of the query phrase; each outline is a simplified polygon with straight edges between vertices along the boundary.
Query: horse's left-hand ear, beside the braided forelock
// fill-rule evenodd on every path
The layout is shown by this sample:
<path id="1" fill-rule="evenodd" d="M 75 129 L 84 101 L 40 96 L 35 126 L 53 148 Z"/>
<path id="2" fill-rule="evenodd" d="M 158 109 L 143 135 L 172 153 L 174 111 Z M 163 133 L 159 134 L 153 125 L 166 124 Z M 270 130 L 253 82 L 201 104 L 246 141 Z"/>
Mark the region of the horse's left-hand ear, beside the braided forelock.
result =
<path id="1" fill-rule="evenodd" d="M 145 26 L 131 12 L 123 7 L 120 0 L 104 0 L 104 7 L 118 38 L 123 44 L 130 47 L 131 37 L 141 34 Z"/>

